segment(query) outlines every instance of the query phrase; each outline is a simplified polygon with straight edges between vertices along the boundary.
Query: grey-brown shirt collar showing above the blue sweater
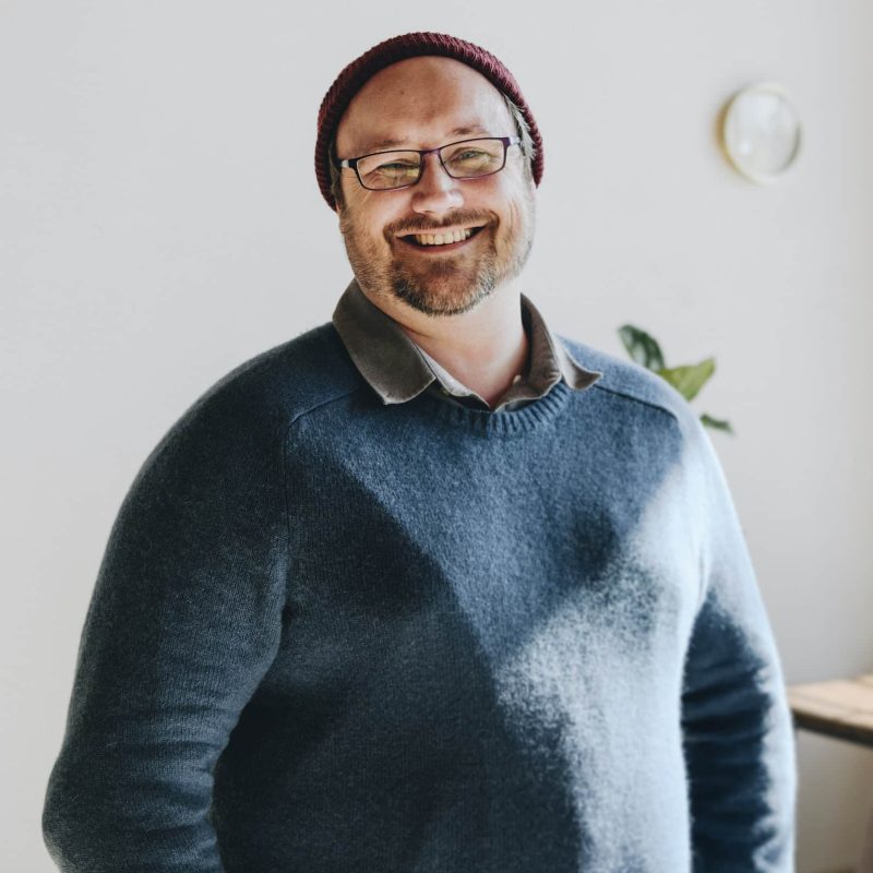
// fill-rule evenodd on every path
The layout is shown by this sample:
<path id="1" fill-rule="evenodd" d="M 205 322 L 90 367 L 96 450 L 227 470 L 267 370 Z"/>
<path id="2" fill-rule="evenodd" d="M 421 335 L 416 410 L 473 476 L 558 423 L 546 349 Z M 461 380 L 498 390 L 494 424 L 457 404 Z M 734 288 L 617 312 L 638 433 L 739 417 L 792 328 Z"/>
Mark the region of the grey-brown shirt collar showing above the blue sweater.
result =
<path id="1" fill-rule="evenodd" d="M 422 391 L 439 393 L 446 400 L 491 411 L 519 409 L 540 397 L 562 379 L 583 391 L 601 373 L 576 361 L 548 328 L 530 299 L 522 294 L 522 323 L 528 338 L 526 371 L 493 408 L 475 391 L 455 379 L 360 289 L 352 279 L 333 313 L 336 327 L 351 360 L 384 404 L 405 403 Z"/>

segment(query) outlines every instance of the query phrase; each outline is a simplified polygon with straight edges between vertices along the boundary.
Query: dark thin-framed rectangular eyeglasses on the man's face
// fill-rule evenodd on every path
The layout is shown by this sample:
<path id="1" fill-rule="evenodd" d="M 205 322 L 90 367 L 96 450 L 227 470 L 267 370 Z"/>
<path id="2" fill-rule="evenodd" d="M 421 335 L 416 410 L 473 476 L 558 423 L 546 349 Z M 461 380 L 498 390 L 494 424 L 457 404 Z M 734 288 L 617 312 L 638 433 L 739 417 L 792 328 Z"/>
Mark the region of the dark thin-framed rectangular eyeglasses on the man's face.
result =
<path id="1" fill-rule="evenodd" d="M 349 167 L 368 191 L 387 191 L 409 188 L 421 179 L 424 155 L 438 154 L 443 169 L 453 179 L 480 179 L 500 172 L 506 165 L 506 150 L 518 145 L 521 136 L 486 136 L 480 140 L 461 140 L 439 148 L 402 152 L 374 152 L 361 157 L 336 160 L 336 167 Z"/>

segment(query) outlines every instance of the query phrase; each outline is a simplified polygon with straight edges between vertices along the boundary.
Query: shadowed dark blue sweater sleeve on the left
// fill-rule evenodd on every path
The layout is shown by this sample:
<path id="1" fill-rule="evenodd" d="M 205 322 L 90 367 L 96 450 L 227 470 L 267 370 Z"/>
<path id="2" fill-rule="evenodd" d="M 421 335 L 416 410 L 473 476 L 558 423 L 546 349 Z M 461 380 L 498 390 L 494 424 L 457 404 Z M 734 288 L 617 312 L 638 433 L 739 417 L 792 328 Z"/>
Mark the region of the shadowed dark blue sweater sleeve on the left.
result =
<path id="1" fill-rule="evenodd" d="M 152 452 L 109 535 L 43 810 L 65 873 L 222 871 L 213 772 L 277 650 L 287 550 L 278 429 L 223 396 Z"/>

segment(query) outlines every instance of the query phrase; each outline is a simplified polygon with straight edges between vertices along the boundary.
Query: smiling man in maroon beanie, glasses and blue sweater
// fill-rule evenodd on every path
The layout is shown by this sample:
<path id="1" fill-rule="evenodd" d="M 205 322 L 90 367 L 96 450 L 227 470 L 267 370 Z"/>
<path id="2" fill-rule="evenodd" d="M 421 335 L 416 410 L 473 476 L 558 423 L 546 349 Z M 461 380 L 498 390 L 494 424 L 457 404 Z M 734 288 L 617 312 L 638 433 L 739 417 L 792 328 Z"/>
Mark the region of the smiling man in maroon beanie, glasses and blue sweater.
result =
<path id="1" fill-rule="evenodd" d="M 782 677 L 708 438 L 521 292 L 517 82 L 386 40 L 327 92 L 315 163 L 355 280 L 131 487 L 48 786 L 58 865 L 791 870 Z"/>

